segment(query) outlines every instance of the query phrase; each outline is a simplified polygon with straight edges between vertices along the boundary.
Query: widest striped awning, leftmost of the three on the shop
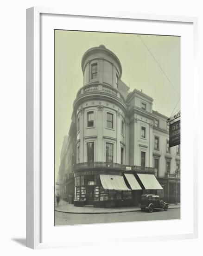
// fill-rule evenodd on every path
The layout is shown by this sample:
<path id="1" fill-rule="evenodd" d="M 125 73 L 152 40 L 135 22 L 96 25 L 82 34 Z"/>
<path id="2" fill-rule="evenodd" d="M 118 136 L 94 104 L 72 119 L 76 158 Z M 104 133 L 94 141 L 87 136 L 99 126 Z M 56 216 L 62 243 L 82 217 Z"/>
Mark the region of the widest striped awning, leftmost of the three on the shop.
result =
<path id="1" fill-rule="evenodd" d="M 126 186 L 123 176 L 101 174 L 100 180 L 104 189 L 130 190 Z"/>

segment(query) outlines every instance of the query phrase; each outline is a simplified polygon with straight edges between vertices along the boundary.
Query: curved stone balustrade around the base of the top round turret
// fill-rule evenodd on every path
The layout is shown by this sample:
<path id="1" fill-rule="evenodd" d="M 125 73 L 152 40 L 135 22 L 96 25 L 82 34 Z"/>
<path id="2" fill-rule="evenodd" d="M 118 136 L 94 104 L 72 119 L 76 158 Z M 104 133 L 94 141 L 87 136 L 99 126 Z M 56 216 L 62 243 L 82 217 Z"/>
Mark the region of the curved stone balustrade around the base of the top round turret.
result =
<path id="1" fill-rule="evenodd" d="M 86 94 L 90 92 L 95 92 L 95 91 L 101 91 L 105 92 L 111 95 L 114 95 L 115 97 L 121 99 L 121 101 L 125 102 L 124 97 L 120 94 L 120 92 L 115 89 L 114 87 L 110 85 L 103 85 L 103 84 L 88 84 L 86 86 L 83 86 L 77 93 L 77 97 L 80 96 L 81 94 Z"/>

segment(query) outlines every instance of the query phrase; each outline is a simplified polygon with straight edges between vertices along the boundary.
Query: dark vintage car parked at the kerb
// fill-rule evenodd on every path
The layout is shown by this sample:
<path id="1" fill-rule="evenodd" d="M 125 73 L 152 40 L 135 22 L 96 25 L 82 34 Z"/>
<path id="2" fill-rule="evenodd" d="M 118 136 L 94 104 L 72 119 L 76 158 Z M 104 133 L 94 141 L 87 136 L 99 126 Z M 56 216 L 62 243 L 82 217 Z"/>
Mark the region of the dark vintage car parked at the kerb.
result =
<path id="1" fill-rule="evenodd" d="M 141 195 L 140 208 L 142 211 L 149 210 L 149 212 L 153 212 L 154 209 L 164 209 L 167 211 L 168 203 L 160 200 L 159 195 Z"/>

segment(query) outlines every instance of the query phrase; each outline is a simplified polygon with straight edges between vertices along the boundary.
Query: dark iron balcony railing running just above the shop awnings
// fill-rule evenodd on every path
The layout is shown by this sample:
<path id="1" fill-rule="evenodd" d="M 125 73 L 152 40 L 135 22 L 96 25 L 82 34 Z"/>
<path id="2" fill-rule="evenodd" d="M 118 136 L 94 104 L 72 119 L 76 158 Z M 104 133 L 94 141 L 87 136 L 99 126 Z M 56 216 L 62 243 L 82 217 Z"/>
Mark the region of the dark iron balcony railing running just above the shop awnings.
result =
<path id="1" fill-rule="evenodd" d="M 75 170 L 81 169 L 91 169 L 91 168 L 105 168 L 105 169 L 115 169 L 122 171 L 136 171 L 136 172 L 146 172 L 146 173 L 154 173 L 154 168 L 152 167 L 141 167 L 141 166 L 129 166 L 123 165 L 120 163 L 112 163 L 112 162 L 82 162 L 75 164 Z"/>

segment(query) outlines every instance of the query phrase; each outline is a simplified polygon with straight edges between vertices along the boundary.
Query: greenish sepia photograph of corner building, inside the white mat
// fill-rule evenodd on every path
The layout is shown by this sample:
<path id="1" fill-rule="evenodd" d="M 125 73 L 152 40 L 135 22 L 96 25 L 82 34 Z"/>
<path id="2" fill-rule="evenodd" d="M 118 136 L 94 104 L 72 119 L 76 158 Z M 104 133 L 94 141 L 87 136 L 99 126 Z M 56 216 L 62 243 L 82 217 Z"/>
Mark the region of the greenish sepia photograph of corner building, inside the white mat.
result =
<path id="1" fill-rule="evenodd" d="M 54 224 L 180 219 L 179 36 L 55 30 Z"/>

